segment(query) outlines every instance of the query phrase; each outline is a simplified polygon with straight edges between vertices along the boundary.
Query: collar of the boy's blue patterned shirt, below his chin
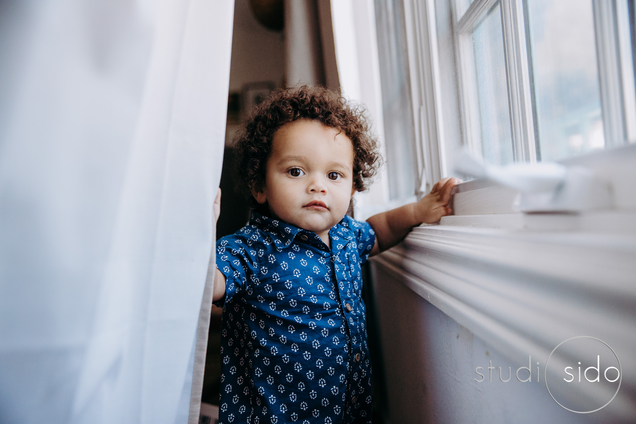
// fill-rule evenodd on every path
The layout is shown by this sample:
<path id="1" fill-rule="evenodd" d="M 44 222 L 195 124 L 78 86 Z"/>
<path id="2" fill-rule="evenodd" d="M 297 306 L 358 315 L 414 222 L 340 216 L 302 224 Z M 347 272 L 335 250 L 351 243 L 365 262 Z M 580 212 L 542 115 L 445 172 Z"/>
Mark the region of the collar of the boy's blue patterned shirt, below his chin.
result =
<path id="1" fill-rule="evenodd" d="M 343 217 L 343 219 L 338 222 L 335 226 L 333 226 L 329 230 L 329 235 L 333 239 L 333 233 L 336 233 L 338 236 L 344 239 L 344 243 L 332 243 L 332 244 L 347 244 L 352 238 L 354 238 L 354 234 L 352 229 L 350 228 L 350 220 L 351 218 L 347 215 Z M 249 224 L 257 226 L 258 228 L 266 231 L 271 237 L 276 250 L 283 250 L 289 247 L 291 243 L 294 241 L 296 236 L 306 235 L 307 242 L 320 242 L 322 243 L 321 238 L 316 234 L 312 233 L 312 231 L 307 231 L 306 229 L 298 228 L 293 224 L 287 224 L 284 221 L 277 221 L 276 219 L 272 219 L 270 217 L 266 217 L 265 215 L 261 215 L 258 212 L 254 212 L 252 210 L 252 214 L 249 217 Z M 332 246 L 333 249 L 333 246 Z"/>

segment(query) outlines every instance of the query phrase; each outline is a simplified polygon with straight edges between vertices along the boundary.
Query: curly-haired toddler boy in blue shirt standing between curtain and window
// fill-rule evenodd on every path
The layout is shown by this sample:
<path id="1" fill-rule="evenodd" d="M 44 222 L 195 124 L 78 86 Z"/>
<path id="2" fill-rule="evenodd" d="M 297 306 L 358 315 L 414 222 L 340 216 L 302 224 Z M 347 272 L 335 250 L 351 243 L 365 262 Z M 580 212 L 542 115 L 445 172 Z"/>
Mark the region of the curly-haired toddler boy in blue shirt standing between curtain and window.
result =
<path id="1" fill-rule="evenodd" d="M 361 264 L 449 214 L 459 181 L 439 181 L 419 202 L 366 222 L 345 215 L 379 156 L 361 111 L 324 88 L 273 93 L 236 149 L 255 209 L 217 245 L 219 420 L 370 423 Z"/>

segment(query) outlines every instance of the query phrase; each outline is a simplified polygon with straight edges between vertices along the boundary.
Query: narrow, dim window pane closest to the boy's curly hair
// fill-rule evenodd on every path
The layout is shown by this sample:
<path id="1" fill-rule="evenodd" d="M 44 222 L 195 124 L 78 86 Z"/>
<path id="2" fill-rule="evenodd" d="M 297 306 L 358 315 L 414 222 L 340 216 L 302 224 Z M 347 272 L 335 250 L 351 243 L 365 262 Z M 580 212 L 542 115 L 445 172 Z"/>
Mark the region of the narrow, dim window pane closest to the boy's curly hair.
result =
<path id="1" fill-rule="evenodd" d="M 376 0 L 389 197 L 415 194 L 415 133 L 402 1 Z"/>

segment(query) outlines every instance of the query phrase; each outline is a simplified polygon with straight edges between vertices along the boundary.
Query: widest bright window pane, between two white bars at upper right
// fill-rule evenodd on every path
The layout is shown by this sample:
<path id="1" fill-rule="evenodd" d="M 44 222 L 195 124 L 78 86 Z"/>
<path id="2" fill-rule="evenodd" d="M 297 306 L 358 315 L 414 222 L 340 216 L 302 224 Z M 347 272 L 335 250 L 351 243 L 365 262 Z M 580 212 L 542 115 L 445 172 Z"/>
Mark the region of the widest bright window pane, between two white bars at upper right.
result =
<path id="1" fill-rule="evenodd" d="M 605 146 L 591 0 L 527 0 L 541 160 Z"/>

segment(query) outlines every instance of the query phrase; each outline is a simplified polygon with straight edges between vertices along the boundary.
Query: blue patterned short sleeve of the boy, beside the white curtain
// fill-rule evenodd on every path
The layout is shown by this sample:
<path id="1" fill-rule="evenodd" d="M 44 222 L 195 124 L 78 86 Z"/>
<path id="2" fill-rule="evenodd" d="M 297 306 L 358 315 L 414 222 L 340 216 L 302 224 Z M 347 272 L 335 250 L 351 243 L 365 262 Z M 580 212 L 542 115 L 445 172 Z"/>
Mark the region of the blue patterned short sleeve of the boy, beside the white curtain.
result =
<path id="1" fill-rule="evenodd" d="M 256 249 L 242 234 L 222 237 L 216 245 L 216 268 L 225 275 L 225 296 L 215 301 L 223 306 L 234 296 L 244 292 L 256 275 L 258 261 Z"/>

